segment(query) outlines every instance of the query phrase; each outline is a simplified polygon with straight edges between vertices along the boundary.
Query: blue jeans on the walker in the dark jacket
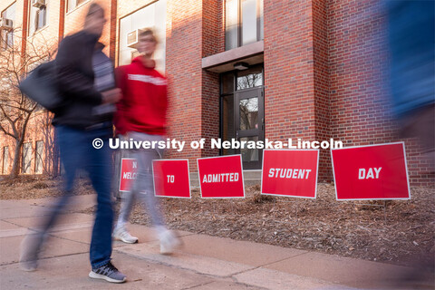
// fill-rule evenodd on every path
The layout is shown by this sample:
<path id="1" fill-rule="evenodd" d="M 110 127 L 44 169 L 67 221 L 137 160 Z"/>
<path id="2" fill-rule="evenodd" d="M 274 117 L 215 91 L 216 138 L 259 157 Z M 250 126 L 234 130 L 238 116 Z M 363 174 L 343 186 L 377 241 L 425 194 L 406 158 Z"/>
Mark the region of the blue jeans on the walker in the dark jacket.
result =
<path id="1" fill-rule="evenodd" d="M 90 258 L 92 268 L 107 264 L 111 260 L 111 230 L 113 227 L 113 208 L 111 204 L 111 160 L 107 145 L 111 138 L 111 128 L 84 131 L 67 126 L 56 127 L 57 142 L 65 170 L 63 196 L 53 204 L 47 220 L 43 224 L 38 248 L 43 236 L 53 227 L 59 214 L 73 195 L 73 184 L 78 169 L 86 169 L 97 192 L 97 210 L 92 229 Z M 106 144 L 102 149 L 92 147 L 92 140 L 100 138 Z"/>

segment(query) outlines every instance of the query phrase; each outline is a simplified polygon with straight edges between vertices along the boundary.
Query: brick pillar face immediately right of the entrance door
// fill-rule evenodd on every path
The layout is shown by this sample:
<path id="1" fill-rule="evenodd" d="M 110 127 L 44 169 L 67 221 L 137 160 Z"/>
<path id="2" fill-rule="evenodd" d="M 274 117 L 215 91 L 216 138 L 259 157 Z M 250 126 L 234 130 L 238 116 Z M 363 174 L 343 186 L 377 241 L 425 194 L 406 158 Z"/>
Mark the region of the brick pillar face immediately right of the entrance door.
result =
<path id="1" fill-rule="evenodd" d="M 265 0 L 266 138 L 314 140 L 314 58 L 309 1 Z"/>

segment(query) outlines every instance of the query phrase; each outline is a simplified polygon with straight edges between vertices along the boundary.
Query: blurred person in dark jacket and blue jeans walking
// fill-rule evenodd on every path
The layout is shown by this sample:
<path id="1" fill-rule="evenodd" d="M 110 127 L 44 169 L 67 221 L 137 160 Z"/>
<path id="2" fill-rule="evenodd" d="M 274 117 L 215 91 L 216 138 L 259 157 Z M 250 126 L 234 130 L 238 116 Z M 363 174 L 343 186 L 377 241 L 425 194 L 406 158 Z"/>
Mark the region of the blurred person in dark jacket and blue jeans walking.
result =
<path id="1" fill-rule="evenodd" d="M 102 44 L 98 43 L 105 23 L 102 6 L 90 5 L 82 31 L 65 37 L 56 55 L 56 81 L 64 103 L 54 111 L 53 125 L 65 171 L 63 196 L 52 205 L 43 226 L 24 239 L 20 263 L 26 271 L 36 269 L 43 241 L 73 195 L 78 169 L 87 169 L 92 187 L 97 192 L 89 276 L 122 283 L 126 276 L 111 264 L 110 149 L 107 146 L 101 149 L 92 147 L 95 139 L 107 141 L 111 138 L 113 103 L 121 99 L 121 91 L 114 85 L 112 63 L 102 53 Z"/>

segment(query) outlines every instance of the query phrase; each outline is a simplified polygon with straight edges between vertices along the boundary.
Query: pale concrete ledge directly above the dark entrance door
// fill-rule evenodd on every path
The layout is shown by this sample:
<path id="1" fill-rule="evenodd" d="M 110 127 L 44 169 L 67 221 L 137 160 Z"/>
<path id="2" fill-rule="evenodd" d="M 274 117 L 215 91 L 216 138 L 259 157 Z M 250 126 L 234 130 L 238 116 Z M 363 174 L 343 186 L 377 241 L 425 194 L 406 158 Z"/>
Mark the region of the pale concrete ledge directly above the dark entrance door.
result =
<path id="1" fill-rule="evenodd" d="M 264 41 L 250 43 L 223 53 L 204 57 L 202 68 L 214 73 L 223 73 L 234 70 L 233 63 L 237 61 L 243 60 L 249 64 L 262 63 L 264 50 Z"/>

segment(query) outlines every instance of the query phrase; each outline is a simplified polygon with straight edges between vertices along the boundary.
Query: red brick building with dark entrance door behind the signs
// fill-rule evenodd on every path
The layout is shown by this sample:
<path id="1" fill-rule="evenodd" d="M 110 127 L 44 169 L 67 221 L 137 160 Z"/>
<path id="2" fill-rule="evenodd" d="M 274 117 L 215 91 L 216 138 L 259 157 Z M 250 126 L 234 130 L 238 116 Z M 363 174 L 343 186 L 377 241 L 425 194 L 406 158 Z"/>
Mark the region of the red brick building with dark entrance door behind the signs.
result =
<path id="1" fill-rule="evenodd" d="M 45 0 L 35 8 L 34 2 L 38 1 L 4 0 L 0 12 L 3 17 L 14 5 L 11 17 L 14 25 L 24 27 L 24 38 L 56 41 L 81 28 L 90 3 Z M 170 138 L 188 144 L 201 138 L 333 138 L 345 146 L 398 140 L 389 112 L 388 75 L 382 66 L 388 50 L 379 1 L 100 3 L 110 19 L 102 43 L 115 65 L 130 63 L 136 54 L 131 47 L 138 30 L 156 30 L 158 69 L 169 78 Z M 39 24 L 34 15 L 45 23 Z M 13 145 L 5 135 L 0 138 L 0 173 L 6 174 Z M 32 138 L 33 151 L 37 140 Z M 433 183 L 429 163 L 420 156 L 415 140 L 405 141 L 411 184 Z M 211 150 L 207 144 L 205 150 L 188 147 L 169 155 L 189 158 L 196 171 L 199 157 L 238 153 L 244 169 L 261 169 L 261 150 Z M 321 150 L 319 180 L 331 180 L 331 170 L 329 150 Z"/>

